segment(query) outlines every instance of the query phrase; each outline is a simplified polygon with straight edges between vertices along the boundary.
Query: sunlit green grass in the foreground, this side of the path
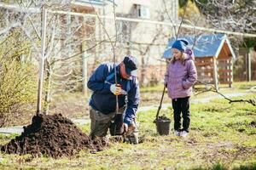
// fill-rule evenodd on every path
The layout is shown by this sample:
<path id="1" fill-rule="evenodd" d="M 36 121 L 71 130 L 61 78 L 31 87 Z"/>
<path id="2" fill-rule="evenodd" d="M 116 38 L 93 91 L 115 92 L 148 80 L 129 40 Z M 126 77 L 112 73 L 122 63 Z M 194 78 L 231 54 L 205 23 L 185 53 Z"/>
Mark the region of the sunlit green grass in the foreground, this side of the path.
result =
<path id="1" fill-rule="evenodd" d="M 255 94 L 243 96 L 252 99 Z M 255 169 L 256 107 L 246 103 L 191 104 L 191 126 L 186 139 L 173 135 L 172 108 L 160 111 L 172 119 L 171 133 L 160 136 L 153 123 L 156 110 L 137 114 L 141 144 L 111 144 L 96 154 L 89 150 L 77 156 L 49 157 L 0 155 L 0 168 L 15 169 Z M 89 124 L 80 127 L 90 132 Z M 9 141 L 0 136 L 1 144 Z"/>

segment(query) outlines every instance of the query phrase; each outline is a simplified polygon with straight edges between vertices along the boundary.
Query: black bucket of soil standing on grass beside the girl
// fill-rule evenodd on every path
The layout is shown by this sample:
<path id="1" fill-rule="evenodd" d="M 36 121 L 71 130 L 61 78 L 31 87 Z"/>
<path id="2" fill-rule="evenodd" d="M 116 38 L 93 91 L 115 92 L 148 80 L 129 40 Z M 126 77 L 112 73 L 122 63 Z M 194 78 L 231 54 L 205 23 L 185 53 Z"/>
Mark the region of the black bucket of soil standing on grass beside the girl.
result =
<path id="1" fill-rule="evenodd" d="M 159 116 L 159 118 L 155 120 L 155 124 L 156 130 L 160 135 L 168 135 L 170 133 L 171 120 L 166 116 Z"/>

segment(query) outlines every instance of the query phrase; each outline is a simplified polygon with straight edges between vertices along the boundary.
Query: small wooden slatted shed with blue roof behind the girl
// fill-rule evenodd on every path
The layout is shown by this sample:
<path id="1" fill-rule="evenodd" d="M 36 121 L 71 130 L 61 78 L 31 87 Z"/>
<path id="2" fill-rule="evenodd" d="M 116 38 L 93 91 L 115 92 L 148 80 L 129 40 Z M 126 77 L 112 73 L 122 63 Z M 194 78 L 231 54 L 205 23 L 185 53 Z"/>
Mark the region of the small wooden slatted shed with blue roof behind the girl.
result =
<path id="1" fill-rule="evenodd" d="M 193 48 L 199 81 L 214 84 L 217 89 L 218 84 L 232 86 L 233 59 L 236 56 L 226 35 L 214 34 L 179 38 L 188 40 Z M 168 42 L 163 58 L 172 58 L 171 48 L 174 41 L 175 38 L 172 38 Z"/>

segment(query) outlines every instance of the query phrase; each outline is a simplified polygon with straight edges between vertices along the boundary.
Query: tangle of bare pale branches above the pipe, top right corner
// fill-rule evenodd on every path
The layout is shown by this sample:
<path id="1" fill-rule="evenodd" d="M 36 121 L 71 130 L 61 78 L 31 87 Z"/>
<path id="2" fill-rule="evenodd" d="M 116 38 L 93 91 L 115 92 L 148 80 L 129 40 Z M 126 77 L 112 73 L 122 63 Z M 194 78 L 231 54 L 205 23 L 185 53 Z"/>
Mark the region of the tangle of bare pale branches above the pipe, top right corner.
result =
<path id="1" fill-rule="evenodd" d="M 253 33 L 256 30 L 256 2 L 253 0 L 208 0 L 206 4 L 198 3 L 198 6 L 207 17 L 208 25 L 241 32 Z"/>

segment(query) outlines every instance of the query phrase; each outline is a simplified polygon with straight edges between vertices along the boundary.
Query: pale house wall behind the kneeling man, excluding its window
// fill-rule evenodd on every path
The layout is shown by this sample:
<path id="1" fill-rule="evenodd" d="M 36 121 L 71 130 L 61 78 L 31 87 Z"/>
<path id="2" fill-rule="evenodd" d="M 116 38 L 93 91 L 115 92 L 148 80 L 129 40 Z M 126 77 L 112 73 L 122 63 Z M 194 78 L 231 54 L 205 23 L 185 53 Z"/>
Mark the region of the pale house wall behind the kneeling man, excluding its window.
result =
<path id="1" fill-rule="evenodd" d="M 167 1 L 166 1 L 167 2 Z M 164 4 L 158 0 L 120 0 L 115 1 L 117 6 L 115 7 L 116 15 L 119 17 L 141 19 L 141 20 L 157 20 L 167 21 L 166 11 Z M 138 16 L 137 8 L 139 5 L 148 8 L 148 18 L 140 18 Z M 172 21 L 177 21 L 177 8 L 178 1 L 171 0 L 166 3 L 168 13 L 171 15 Z M 103 8 L 99 8 L 98 14 L 107 15 L 113 17 L 113 5 L 110 3 Z M 113 20 L 102 20 L 105 28 L 108 31 L 110 37 L 115 37 L 115 27 Z M 155 67 L 159 67 L 158 70 L 165 70 L 165 60 L 161 59 L 162 54 L 165 51 L 168 38 L 174 34 L 170 26 L 157 26 L 152 24 L 117 21 L 118 41 L 117 48 L 115 49 L 116 60 L 120 61 L 126 54 L 131 54 L 137 57 L 140 62 L 140 68 L 138 70 L 138 77 L 141 79 L 143 85 L 148 85 L 153 79 L 158 81 L 162 80 L 164 73 L 161 71 L 155 72 Z M 99 33 L 100 39 L 107 39 L 106 33 L 101 29 Z M 104 50 L 101 50 L 101 54 L 105 55 L 106 60 L 113 60 L 112 49 L 109 43 L 102 46 Z M 108 56 L 106 58 L 106 56 Z M 163 62 L 164 61 L 164 62 Z"/>

